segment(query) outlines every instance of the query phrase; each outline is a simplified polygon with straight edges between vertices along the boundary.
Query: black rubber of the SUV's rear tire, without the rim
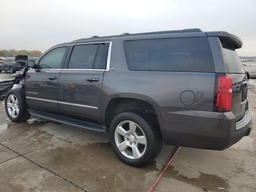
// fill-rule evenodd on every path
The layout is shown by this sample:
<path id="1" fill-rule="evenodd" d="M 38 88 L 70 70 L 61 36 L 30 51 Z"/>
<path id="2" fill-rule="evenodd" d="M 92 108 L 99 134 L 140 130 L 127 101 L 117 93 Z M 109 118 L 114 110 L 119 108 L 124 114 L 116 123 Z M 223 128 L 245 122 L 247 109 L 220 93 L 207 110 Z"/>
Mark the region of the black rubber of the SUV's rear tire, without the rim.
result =
<path id="1" fill-rule="evenodd" d="M 143 130 L 146 137 L 146 151 L 145 153 L 138 159 L 130 159 L 124 156 L 117 148 L 115 142 L 115 131 L 116 127 L 120 122 L 123 121 L 132 121 L 138 124 L 140 128 Z M 116 156 L 123 161 L 124 163 L 134 166 L 141 167 L 150 162 L 152 162 L 160 153 L 162 149 L 162 136 L 160 134 L 160 129 L 158 127 L 158 123 L 143 111 L 132 111 L 132 112 L 123 112 L 118 114 L 111 122 L 109 128 L 109 138 L 110 144 Z"/>

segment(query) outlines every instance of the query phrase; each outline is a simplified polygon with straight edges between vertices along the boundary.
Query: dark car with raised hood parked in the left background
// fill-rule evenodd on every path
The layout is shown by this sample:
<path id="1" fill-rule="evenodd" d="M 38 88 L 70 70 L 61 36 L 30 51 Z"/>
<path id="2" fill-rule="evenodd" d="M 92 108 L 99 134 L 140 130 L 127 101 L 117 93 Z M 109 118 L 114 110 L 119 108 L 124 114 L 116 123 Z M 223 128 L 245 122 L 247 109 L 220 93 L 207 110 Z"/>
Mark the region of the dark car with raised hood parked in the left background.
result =
<path id="1" fill-rule="evenodd" d="M 0 72 L 10 71 L 11 73 L 16 73 L 16 71 L 22 70 L 25 68 L 26 61 L 28 56 L 18 55 L 15 59 L 6 59 L 0 64 Z"/>

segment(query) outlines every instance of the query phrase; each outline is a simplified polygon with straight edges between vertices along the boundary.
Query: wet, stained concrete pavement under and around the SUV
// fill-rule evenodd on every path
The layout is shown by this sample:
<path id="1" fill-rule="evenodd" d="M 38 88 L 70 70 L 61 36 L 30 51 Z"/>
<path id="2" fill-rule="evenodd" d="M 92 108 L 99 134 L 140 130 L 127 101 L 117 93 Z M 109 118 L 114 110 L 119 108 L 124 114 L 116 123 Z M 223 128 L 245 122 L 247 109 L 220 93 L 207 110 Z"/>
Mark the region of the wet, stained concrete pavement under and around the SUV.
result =
<path id="1" fill-rule="evenodd" d="M 256 114 L 255 81 L 250 80 L 248 94 L 253 114 Z M 255 115 L 253 120 L 256 122 Z M 254 126 L 250 136 L 224 151 L 181 148 L 155 190 L 256 191 L 255 136 Z M 3 192 L 147 191 L 175 149 L 164 146 L 152 164 L 133 168 L 116 158 L 108 135 L 33 117 L 14 123 L 6 116 L 4 101 L 0 101 L 0 191 Z"/>

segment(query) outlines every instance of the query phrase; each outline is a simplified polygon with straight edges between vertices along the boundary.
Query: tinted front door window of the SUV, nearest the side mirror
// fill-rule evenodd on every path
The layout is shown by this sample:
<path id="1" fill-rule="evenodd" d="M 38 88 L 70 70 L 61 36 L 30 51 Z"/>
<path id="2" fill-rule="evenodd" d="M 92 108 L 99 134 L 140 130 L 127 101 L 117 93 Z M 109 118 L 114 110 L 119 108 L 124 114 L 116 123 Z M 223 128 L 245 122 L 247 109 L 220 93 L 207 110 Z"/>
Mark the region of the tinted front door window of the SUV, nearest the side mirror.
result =
<path id="1" fill-rule="evenodd" d="M 40 69 L 59 69 L 66 47 L 59 47 L 46 53 L 39 62 Z"/>

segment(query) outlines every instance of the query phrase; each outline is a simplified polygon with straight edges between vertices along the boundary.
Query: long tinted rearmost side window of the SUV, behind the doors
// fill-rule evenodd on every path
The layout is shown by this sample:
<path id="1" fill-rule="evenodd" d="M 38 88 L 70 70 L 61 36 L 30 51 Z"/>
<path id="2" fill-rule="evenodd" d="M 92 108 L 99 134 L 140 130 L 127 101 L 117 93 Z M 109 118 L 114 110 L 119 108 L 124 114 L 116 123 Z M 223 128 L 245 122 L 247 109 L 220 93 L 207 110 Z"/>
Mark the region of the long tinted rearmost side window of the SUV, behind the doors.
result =
<path id="1" fill-rule="evenodd" d="M 214 72 L 207 37 L 130 40 L 124 49 L 130 70 Z"/>

